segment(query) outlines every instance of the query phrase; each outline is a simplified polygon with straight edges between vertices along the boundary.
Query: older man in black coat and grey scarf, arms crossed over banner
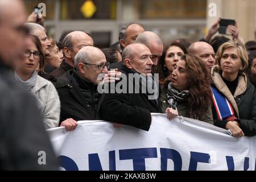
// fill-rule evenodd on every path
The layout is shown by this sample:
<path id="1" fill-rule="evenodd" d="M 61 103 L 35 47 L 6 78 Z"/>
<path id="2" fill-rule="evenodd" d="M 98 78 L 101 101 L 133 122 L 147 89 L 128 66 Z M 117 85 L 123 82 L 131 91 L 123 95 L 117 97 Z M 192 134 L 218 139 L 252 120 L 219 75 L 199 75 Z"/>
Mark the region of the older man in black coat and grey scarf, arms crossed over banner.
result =
<path id="1" fill-rule="evenodd" d="M 100 113 L 107 121 L 138 127 L 148 131 L 150 113 L 162 113 L 158 104 L 158 84 L 151 75 L 154 64 L 150 49 L 141 43 L 127 46 L 122 53 L 122 80 L 110 86 Z M 121 86 L 122 85 L 122 86 Z M 149 86 L 150 85 L 150 86 Z"/>

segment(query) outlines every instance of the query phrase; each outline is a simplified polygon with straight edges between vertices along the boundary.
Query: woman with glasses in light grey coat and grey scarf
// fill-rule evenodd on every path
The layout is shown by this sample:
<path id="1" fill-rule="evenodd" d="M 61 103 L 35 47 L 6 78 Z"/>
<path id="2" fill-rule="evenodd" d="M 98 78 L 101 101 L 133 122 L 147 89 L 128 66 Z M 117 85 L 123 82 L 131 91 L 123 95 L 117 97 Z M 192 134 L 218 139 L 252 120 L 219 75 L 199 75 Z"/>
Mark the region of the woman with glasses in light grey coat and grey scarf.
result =
<path id="1" fill-rule="evenodd" d="M 15 63 L 15 78 L 22 84 L 24 89 L 35 96 L 39 109 L 42 113 L 46 129 L 57 127 L 60 118 L 60 100 L 53 84 L 38 76 L 39 71 L 44 69 L 44 55 L 40 40 L 29 35 L 22 60 Z"/>

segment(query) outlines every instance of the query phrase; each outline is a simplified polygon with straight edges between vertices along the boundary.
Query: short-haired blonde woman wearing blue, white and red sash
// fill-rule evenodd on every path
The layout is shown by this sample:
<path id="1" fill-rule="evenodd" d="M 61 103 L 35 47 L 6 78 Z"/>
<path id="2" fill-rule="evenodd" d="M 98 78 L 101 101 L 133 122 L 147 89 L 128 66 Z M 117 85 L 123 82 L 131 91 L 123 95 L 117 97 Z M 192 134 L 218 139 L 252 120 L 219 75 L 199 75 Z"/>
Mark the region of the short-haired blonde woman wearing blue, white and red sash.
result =
<path id="1" fill-rule="evenodd" d="M 248 56 L 240 42 L 229 41 L 217 51 L 212 67 L 214 125 L 229 129 L 233 137 L 256 135 L 256 93 L 245 75 Z"/>

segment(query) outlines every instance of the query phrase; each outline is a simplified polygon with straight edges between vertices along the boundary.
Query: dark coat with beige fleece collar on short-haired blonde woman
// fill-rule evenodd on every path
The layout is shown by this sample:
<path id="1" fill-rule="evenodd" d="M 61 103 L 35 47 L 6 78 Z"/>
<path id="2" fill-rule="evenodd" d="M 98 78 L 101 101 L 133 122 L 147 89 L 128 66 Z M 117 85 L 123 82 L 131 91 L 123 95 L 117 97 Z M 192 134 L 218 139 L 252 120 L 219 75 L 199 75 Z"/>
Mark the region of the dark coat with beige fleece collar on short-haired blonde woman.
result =
<path id="1" fill-rule="evenodd" d="M 234 96 L 232 96 L 228 87 L 218 73 L 217 66 L 212 69 L 212 72 L 214 72 L 212 74 L 212 86 L 220 90 L 220 92 L 226 98 L 228 98 L 230 104 L 233 107 L 236 117 L 239 119 L 238 122 L 240 122 L 240 128 L 242 129 L 243 133 L 246 136 L 256 135 L 256 90 L 253 84 L 251 84 L 251 82 L 243 73 L 243 75 L 238 78 L 238 86 L 236 92 L 234 93 Z M 237 109 L 238 112 L 236 111 Z M 228 121 L 218 120 L 217 112 L 213 104 L 212 114 L 214 125 L 225 129 L 226 123 Z"/>

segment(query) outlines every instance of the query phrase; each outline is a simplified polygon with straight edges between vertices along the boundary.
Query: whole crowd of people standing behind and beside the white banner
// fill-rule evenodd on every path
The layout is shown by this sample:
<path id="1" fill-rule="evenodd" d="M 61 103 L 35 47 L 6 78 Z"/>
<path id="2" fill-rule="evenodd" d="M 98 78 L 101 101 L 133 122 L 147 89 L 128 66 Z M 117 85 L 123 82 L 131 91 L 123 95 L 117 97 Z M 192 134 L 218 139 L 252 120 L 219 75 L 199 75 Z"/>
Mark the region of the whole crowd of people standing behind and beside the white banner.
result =
<path id="1" fill-rule="evenodd" d="M 151 113 L 166 113 L 236 138 L 256 135 L 256 42 L 244 43 L 237 24 L 228 26 L 232 38 L 216 36 L 219 21 L 198 42 L 164 44 L 128 23 L 100 49 L 77 30 L 57 42 L 42 17 L 26 17 L 22 1 L 0 1 L 0 169 L 57 169 L 46 129 L 75 130 L 80 120 L 148 131 Z M 41 150 L 46 166 L 38 165 Z"/>

